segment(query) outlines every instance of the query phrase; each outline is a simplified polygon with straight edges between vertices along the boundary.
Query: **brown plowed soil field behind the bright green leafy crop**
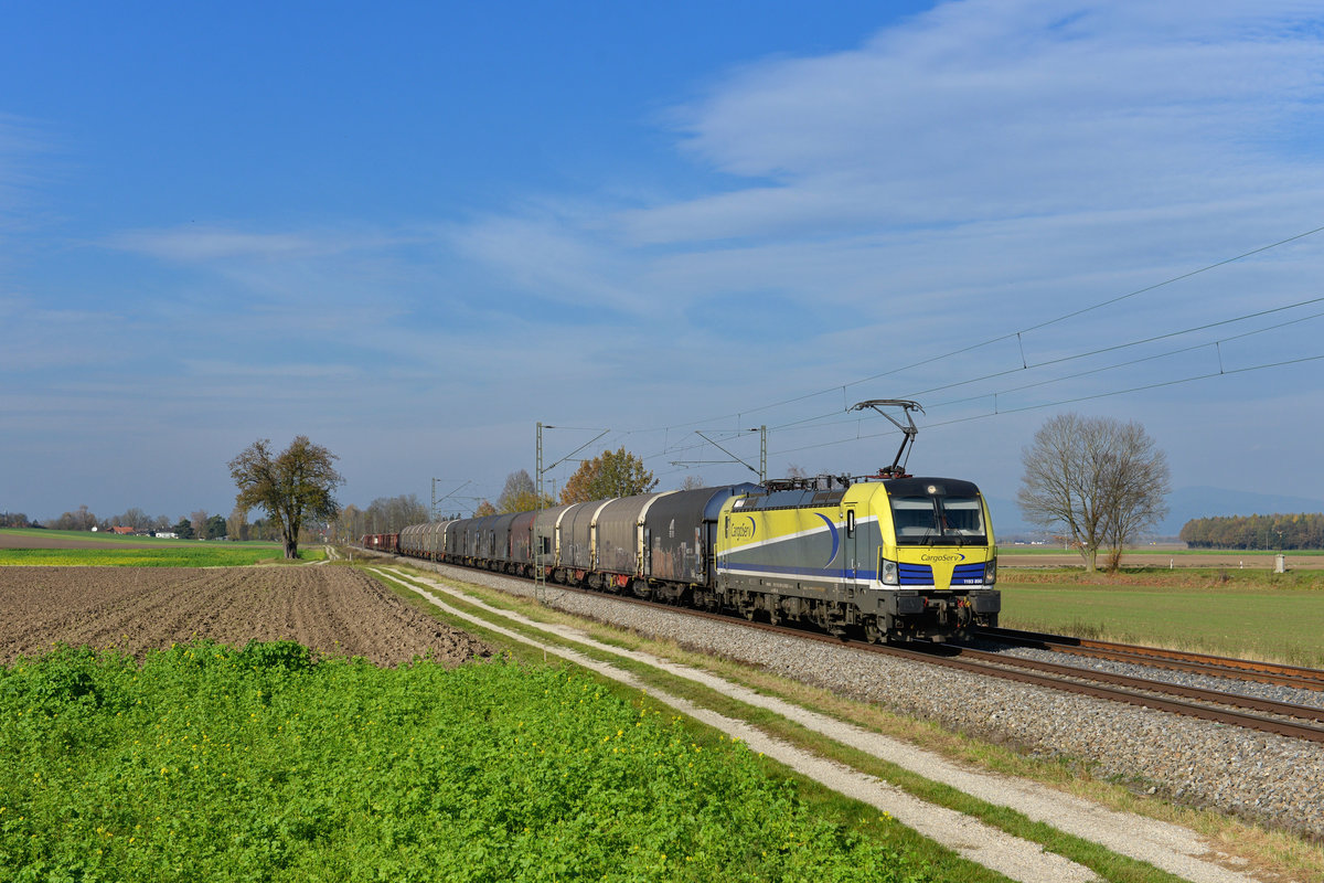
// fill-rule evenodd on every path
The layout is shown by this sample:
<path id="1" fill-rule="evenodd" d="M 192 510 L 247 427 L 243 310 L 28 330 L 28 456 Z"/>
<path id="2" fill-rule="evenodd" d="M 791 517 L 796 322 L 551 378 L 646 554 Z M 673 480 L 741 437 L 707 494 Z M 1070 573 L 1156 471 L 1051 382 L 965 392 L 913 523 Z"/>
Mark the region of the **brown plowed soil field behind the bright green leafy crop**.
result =
<path id="1" fill-rule="evenodd" d="M 491 654 L 342 567 L 0 568 L 3 663 L 61 642 L 142 657 L 196 638 L 290 639 L 387 666 L 429 653 L 446 665 Z"/>

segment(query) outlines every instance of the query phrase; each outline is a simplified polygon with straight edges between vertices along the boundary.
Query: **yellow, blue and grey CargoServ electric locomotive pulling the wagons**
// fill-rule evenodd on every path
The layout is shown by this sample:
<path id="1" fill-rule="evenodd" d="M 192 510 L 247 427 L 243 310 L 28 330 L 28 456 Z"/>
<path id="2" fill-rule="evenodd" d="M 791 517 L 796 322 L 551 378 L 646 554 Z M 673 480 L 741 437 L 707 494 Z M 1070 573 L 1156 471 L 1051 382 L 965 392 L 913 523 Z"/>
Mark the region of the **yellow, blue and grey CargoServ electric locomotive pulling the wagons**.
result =
<path id="1" fill-rule="evenodd" d="M 953 478 L 768 482 L 720 514 L 716 593 L 745 617 L 943 641 L 1001 610 L 978 488 Z"/>

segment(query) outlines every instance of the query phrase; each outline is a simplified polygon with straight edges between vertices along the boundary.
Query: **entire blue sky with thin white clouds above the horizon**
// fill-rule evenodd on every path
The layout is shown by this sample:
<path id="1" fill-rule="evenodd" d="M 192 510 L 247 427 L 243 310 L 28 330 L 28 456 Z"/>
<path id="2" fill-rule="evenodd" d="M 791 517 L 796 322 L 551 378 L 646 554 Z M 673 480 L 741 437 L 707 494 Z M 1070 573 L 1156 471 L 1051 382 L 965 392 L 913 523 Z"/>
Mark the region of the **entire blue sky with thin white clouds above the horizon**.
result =
<path id="1" fill-rule="evenodd" d="M 0 508 L 228 512 L 297 434 L 346 503 L 495 496 L 538 421 L 662 487 L 748 478 L 695 430 L 756 463 L 759 425 L 772 475 L 861 474 L 882 397 L 925 405 L 912 470 L 994 496 L 1076 410 L 1178 487 L 1324 498 L 1317 4 L 0 25 Z"/>

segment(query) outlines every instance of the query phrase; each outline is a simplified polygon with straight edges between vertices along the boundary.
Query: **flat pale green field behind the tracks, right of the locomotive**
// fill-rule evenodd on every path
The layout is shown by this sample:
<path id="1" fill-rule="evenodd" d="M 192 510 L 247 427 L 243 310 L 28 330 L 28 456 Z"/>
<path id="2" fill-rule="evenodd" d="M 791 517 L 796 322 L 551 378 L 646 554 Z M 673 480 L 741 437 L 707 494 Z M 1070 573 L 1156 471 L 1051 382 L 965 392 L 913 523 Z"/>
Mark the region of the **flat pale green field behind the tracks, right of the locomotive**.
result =
<path id="1" fill-rule="evenodd" d="M 1079 572 L 1006 569 L 1001 625 L 1083 638 L 1324 667 L 1324 577 L 1251 571 Z"/>

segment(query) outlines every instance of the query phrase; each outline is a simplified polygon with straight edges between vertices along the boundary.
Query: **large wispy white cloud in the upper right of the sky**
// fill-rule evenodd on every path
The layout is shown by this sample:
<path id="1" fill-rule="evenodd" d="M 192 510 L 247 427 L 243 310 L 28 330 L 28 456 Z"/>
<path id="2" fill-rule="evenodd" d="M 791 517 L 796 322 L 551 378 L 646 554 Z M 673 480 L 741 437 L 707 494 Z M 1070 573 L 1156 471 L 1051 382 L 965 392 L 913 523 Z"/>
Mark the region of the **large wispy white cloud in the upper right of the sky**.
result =
<path id="1" fill-rule="evenodd" d="M 747 66 L 675 116 L 696 162 L 749 185 L 622 222 L 653 244 L 963 224 L 1254 192 L 1282 164 L 1319 191 L 1316 156 L 1266 143 L 1313 114 L 1319 34 L 1291 7 L 1192 12 L 953 3 Z"/>

